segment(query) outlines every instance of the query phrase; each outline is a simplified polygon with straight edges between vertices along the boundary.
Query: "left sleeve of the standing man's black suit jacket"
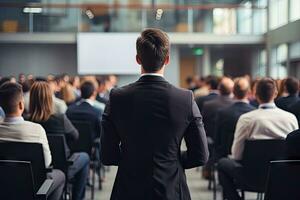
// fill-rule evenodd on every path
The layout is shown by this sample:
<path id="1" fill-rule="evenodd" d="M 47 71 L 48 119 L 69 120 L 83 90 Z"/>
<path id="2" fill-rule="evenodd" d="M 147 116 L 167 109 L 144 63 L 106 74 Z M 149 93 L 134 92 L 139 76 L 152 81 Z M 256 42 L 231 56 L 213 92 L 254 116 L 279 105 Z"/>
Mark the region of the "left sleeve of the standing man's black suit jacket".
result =
<path id="1" fill-rule="evenodd" d="M 111 95 L 112 96 L 112 95 Z M 111 101 L 107 103 L 102 115 L 101 161 L 104 165 L 119 165 L 120 137 L 112 120 Z"/>

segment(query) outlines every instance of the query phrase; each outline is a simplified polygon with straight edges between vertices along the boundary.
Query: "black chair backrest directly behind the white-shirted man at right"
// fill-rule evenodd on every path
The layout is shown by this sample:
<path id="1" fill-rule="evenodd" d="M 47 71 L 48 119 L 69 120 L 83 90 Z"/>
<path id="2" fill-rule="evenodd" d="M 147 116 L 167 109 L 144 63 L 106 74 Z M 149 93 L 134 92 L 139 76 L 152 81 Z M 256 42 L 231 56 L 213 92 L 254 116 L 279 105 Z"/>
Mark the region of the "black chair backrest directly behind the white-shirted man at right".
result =
<path id="1" fill-rule="evenodd" d="M 242 164 L 247 180 L 247 190 L 264 192 L 269 162 L 282 159 L 284 140 L 248 140 L 245 143 Z"/>

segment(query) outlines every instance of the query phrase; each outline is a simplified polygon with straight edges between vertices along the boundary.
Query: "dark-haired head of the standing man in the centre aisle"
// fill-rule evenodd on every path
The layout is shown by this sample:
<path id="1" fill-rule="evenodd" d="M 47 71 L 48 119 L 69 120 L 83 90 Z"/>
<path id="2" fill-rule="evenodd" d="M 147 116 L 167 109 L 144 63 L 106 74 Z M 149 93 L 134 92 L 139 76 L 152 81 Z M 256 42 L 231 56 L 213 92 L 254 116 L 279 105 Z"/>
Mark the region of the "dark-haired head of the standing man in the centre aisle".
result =
<path id="1" fill-rule="evenodd" d="M 159 29 L 146 29 L 136 40 L 136 51 L 146 72 L 159 71 L 169 55 L 167 34 Z"/>

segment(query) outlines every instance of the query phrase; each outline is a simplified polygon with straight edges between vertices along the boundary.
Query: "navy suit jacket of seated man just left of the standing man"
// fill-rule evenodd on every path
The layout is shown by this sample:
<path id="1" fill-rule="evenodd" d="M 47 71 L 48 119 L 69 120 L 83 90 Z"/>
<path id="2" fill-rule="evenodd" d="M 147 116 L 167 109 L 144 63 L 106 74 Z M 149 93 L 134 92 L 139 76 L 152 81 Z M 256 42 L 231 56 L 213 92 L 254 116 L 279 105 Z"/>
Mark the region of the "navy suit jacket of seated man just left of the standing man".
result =
<path id="1" fill-rule="evenodd" d="M 92 137 L 98 138 L 101 133 L 102 111 L 93 107 L 85 101 L 79 101 L 67 109 L 67 117 L 71 121 L 90 122 L 92 126 Z"/>

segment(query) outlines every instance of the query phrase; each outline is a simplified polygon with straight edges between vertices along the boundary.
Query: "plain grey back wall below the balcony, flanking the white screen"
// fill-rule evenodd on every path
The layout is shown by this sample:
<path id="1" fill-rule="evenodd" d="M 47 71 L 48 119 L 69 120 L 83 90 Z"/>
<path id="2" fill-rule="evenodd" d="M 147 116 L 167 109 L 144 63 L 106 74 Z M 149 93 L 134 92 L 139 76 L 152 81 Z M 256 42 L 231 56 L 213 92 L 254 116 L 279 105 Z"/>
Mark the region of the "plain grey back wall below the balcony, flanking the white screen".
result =
<path id="1" fill-rule="evenodd" d="M 172 46 L 166 79 L 179 85 L 179 51 Z M 76 44 L 0 44 L 0 75 L 19 73 L 46 76 L 48 74 L 77 74 Z M 139 75 L 118 75 L 119 85 L 136 81 Z"/>

